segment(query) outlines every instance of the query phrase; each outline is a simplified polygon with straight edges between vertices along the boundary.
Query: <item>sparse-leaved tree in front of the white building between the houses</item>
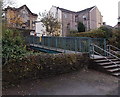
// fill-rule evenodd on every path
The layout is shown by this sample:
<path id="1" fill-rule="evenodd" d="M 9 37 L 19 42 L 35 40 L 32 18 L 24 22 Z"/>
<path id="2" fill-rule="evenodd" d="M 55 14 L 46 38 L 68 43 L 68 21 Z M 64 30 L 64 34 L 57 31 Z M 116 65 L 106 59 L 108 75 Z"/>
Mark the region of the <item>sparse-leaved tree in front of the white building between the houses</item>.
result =
<path id="1" fill-rule="evenodd" d="M 45 25 L 47 34 L 51 36 L 60 36 L 61 25 L 58 19 L 50 12 L 44 12 L 40 16 L 42 16 L 41 22 Z"/>

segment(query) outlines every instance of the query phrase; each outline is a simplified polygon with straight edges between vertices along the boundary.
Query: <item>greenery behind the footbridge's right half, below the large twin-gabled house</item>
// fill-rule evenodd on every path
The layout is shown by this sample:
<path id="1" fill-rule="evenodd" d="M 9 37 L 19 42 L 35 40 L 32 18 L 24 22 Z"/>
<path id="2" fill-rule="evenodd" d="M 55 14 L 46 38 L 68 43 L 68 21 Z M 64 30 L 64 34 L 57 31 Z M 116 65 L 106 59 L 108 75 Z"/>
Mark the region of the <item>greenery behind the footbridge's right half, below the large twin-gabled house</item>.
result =
<path id="1" fill-rule="evenodd" d="M 68 36 L 72 37 L 91 37 L 91 38 L 106 38 L 107 44 L 111 44 L 120 48 L 120 29 L 112 29 L 106 26 L 101 26 L 88 32 L 71 31 Z"/>

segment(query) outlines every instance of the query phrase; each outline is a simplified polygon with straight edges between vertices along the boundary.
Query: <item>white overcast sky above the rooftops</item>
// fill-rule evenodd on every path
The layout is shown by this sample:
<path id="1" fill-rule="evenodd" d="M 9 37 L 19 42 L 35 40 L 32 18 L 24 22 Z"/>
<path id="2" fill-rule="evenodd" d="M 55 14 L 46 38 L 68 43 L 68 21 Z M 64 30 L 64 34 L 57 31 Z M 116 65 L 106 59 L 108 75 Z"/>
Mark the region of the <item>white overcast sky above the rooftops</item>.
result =
<path id="1" fill-rule="evenodd" d="M 15 0 L 17 7 L 26 4 L 33 13 L 50 10 L 52 5 L 72 11 L 97 6 L 107 25 L 115 26 L 118 22 L 118 2 L 120 0 Z"/>

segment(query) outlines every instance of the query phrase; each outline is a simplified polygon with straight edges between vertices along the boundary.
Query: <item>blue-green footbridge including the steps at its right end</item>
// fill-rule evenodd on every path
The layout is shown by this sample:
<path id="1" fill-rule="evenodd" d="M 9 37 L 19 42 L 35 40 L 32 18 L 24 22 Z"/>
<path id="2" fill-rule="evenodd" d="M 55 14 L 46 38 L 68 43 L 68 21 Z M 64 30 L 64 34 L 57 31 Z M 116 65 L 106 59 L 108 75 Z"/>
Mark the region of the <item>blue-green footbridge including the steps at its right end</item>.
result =
<path id="1" fill-rule="evenodd" d="M 107 45 L 104 38 L 29 36 L 26 42 L 31 49 L 46 53 L 88 53 L 95 68 L 120 76 L 120 49 Z"/>

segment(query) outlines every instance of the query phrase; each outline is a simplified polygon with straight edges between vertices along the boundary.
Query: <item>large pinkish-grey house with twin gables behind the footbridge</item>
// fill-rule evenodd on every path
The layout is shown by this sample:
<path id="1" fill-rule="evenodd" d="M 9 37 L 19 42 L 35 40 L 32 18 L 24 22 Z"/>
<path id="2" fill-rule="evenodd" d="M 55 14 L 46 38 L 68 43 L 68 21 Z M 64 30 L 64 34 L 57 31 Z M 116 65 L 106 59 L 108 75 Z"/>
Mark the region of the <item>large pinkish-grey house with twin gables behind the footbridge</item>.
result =
<path id="1" fill-rule="evenodd" d="M 50 12 L 61 23 L 61 36 L 66 36 L 70 30 L 77 30 L 78 22 L 82 22 L 85 25 L 86 31 L 103 25 L 103 16 L 96 6 L 78 12 L 52 6 Z"/>

